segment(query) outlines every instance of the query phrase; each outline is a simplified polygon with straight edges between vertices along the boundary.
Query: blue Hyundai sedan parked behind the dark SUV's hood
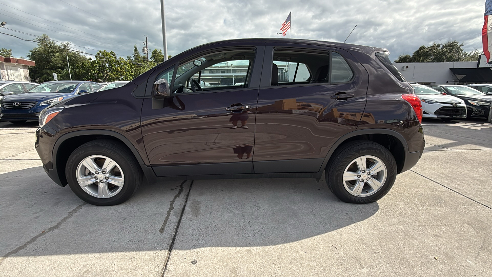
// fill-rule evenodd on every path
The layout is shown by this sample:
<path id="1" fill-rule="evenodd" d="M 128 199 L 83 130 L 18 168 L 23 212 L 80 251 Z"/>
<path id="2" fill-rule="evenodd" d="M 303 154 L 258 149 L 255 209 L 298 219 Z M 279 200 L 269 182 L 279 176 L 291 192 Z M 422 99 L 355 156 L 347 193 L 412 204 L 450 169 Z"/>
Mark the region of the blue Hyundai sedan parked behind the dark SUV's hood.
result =
<path id="1" fill-rule="evenodd" d="M 38 120 L 43 109 L 59 101 L 98 91 L 102 86 L 88 81 L 44 82 L 25 93 L 5 96 L 0 101 L 0 121 L 23 123 Z"/>

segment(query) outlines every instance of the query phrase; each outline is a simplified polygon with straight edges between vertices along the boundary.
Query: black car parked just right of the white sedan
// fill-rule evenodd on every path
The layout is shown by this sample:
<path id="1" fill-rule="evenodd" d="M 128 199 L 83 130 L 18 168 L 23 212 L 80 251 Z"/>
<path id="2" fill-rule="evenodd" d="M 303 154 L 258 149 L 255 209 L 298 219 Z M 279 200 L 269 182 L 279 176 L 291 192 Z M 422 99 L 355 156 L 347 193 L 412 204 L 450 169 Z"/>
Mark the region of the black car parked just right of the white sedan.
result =
<path id="1" fill-rule="evenodd" d="M 489 117 L 492 96 L 476 89 L 461 85 L 427 85 L 439 92 L 460 98 L 466 104 L 466 115 L 470 117 Z"/>

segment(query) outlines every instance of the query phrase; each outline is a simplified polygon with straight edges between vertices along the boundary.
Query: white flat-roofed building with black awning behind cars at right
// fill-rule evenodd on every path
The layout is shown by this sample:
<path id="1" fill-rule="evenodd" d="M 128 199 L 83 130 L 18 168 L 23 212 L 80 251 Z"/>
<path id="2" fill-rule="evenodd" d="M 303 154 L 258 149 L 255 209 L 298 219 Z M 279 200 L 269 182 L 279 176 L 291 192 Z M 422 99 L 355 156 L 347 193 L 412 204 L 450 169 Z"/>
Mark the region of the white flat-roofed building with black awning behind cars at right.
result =
<path id="1" fill-rule="evenodd" d="M 477 62 L 394 63 L 409 82 L 423 85 L 492 83 L 492 65 L 485 55 Z"/>

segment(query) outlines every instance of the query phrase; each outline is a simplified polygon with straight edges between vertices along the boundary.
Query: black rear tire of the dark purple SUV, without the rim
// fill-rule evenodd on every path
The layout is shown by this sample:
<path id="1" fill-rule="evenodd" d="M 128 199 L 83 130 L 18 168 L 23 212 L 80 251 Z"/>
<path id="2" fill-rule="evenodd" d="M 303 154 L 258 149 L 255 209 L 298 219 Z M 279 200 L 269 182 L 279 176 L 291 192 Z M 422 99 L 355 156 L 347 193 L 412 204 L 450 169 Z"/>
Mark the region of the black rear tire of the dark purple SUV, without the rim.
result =
<path id="1" fill-rule="evenodd" d="M 356 158 L 371 155 L 379 158 L 386 166 L 387 177 L 383 185 L 374 194 L 367 197 L 358 197 L 350 194 L 343 185 L 343 173 L 345 168 Z M 391 152 L 381 144 L 356 140 L 342 145 L 333 154 L 333 159 L 326 166 L 325 177 L 330 190 L 343 202 L 365 204 L 378 201 L 385 196 L 395 183 L 397 177 L 397 165 Z"/>

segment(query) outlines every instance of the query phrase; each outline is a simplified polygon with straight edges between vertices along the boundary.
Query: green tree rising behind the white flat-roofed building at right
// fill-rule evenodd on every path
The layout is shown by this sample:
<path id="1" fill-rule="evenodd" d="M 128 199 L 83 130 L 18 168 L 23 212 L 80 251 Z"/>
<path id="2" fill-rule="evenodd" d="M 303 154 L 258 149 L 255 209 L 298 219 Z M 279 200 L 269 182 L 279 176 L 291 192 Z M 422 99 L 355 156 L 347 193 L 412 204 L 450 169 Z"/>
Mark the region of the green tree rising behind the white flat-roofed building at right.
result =
<path id="1" fill-rule="evenodd" d="M 430 46 L 422 45 L 413 54 L 400 55 L 395 63 L 442 63 L 442 62 L 467 62 L 478 61 L 482 54 L 478 50 L 466 52 L 463 43 L 456 40 L 444 44 L 432 43 Z"/>

